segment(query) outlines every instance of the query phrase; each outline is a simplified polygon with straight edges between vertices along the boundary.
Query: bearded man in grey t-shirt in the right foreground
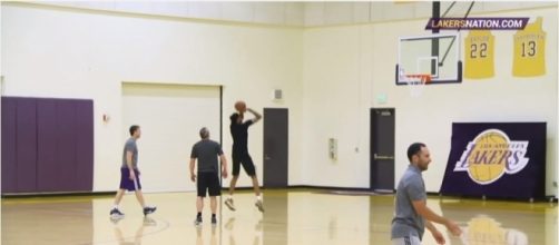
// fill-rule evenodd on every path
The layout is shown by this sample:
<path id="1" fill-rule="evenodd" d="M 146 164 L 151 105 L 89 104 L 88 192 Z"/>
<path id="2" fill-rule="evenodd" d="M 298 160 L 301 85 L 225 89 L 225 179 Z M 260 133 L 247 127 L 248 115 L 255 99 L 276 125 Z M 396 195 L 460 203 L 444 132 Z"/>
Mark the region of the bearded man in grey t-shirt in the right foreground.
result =
<path id="1" fill-rule="evenodd" d="M 425 184 L 421 173 L 428 169 L 431 156 L 425 144 L 414 143 L 408 148 L 410 166 L 400 179 L 396 188 L 395 217 L 392 219 L 391 239 L 394 245 L 419 245 L 425 227 L 438 244 L 444 244 L 444 237 L 431 223 L 439 223 L 459 236 L 460 227 L 426 206 Z"/>

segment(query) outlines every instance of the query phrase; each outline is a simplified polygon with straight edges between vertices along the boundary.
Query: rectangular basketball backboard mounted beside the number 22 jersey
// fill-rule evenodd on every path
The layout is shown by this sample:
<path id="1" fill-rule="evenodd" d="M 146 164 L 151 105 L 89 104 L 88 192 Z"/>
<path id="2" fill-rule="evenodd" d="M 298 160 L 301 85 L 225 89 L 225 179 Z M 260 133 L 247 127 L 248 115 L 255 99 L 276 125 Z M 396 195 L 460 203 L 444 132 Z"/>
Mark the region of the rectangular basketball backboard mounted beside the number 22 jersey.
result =
<path id="1" fill-rule="evenodd" d="M 460 32 L 401 37 L 395 72 L 396 85 L 409 75 L 430 75 L 430 85 L 461 82 Z"/>

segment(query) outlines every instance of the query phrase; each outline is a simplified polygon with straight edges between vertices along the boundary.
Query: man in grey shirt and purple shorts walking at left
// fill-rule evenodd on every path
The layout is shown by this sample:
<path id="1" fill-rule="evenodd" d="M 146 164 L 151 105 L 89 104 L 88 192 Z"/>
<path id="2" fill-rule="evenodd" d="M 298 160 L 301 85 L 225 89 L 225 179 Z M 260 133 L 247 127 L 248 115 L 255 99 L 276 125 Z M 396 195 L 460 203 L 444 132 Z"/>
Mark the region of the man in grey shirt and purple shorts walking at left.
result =
<path id="1" fill-rule="evenodd" d="M 120 167 L 120 187 L 115 196 L 115 206 L 110 210 L 111 218 L 121 218 L 125 216 L 119 209 L 118 204 L 122 199 L 126 190 L 135 192 L 138 203 L 144 208 L 144 215 L 154 213 L 157 207 L 147 206 L 141 194 L 141 184 L 139 180 L 140 171 L 138 170 L 138 147 L 136 140 L 141 135 L 139 126 L 130 126 L 130 138 L 126 140 L 125 149 L 122 150 L 122 165 Z"/>

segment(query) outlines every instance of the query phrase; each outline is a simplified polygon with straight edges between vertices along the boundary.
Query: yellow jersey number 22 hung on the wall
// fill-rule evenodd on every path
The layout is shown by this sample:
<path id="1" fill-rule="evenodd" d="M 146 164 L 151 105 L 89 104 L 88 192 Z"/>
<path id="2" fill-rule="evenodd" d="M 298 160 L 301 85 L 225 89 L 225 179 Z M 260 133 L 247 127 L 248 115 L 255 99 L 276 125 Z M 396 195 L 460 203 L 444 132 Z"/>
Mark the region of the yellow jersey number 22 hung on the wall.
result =
<path id="1" fill-rule="evenodd" d="M 464 77 L 491 78 L 494 76 L 494 36 L 489 30 L 472 30 L 464 41 Z"/>

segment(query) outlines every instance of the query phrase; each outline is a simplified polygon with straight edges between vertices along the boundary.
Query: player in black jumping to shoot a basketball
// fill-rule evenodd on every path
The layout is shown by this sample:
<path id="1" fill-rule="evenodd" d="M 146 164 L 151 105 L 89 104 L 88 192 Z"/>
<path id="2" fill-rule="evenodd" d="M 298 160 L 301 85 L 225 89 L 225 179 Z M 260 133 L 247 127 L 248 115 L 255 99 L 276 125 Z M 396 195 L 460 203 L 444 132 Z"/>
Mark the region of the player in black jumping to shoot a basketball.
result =
<path id="1" fill-rule="evenodd" d="M 253 119 L 243 121 L 244 112 L 248 111 L 254 115 Z M 258 186 L 258 178 L 256 178 L 256 170 L 254 168 L 253 159 L 248 155 L 248 127 L 258 120 L 261 120 L 262 115 L 254 111 L 251 108 L 246 108 L 243 111 L 233 114 L 231 119 L 231 135 L 233 137 L 233 178 L 229 185 L 229 197 L 225 199 L 225 205 L 231 209 L 235 210 L 233 204 L 233 193 L 235 192 L 235 185 L 237 184 L 238 174 L 241 171 L 241 165 L 245 169 L 246 174 L 253 179 L 254 194 L 256 195 L 256 207 L 258 210 L 264 212 L 264 206 L 262 204 L 261 189 Z"/>

